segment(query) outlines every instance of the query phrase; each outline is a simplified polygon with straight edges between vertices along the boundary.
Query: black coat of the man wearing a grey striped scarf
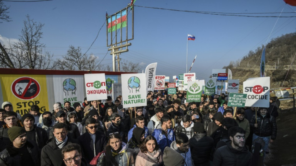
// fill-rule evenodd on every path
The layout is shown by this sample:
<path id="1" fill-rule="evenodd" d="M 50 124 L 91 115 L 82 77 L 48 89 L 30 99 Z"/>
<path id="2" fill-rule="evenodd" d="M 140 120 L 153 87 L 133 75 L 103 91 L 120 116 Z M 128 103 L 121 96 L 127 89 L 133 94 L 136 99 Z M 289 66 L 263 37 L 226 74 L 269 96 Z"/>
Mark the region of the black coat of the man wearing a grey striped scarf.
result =
<path id="1" fill-rule="evenodd" d="M 78 141 L 68 137 L 66 145 L 69 145 L 69 144 L 78 144 Z M 62 149 L 60 149 L 56 145 L 55 137 L 48 140 L 47 145 L 45 145 L 41 150 L 41 166 L 47 166 L 47 165 L 53 165 L 53 166 L 65 165 L 63 156 L 62 156 Z"/>

